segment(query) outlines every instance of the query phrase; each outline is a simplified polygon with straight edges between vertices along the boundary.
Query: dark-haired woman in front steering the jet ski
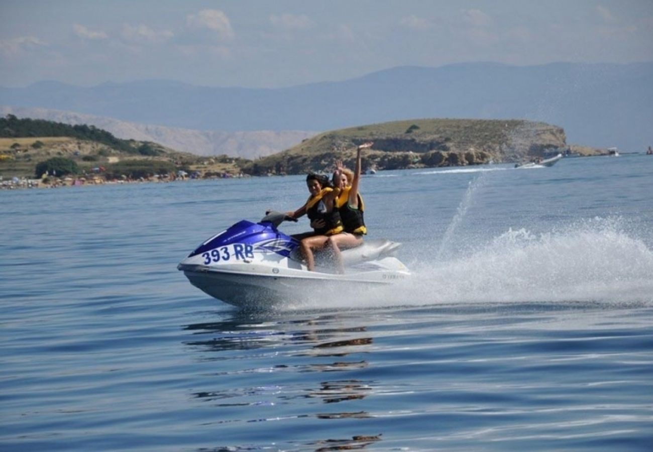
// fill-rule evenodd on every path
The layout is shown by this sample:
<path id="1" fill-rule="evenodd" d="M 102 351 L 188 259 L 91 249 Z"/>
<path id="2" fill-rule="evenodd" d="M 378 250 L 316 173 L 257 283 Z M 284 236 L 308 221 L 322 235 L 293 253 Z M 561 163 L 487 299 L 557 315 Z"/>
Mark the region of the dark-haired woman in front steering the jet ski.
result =
<path id="1" fill-rule="evenodd" d="M 308 270 L 313 271 L 315 270 L 313 250 L 325 248 L 328 238 L 341 233 L 343 227 L 340 210 L 336 208 L 338 191 L 334 191 L 328 177 L 320 174 L 308 174 L 306 186 L 311 193 L 308 201 L 295 212 L 289 212 L 288 215 L 296 219 L 306 214 L 311 220 L 314 232 L 300 234 L 295 238 L 300 240 L 300 250 L 306 258 Z"/>

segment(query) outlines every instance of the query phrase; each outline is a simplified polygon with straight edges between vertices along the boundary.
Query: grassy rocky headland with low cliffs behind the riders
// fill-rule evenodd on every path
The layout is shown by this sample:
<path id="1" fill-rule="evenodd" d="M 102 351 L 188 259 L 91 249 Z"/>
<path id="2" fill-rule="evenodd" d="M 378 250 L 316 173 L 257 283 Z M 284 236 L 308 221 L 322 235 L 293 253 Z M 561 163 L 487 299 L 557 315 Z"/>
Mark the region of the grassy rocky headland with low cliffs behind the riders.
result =
<path id="1" fill-rule="evenodd" d="M 404 169 L 507 163 L 567 148 L 562 127 L 524 120 L 409 120 L 330 131 L 258 159 L 251 174 L 325 170 L 334 159 L 353 166 L 354 148 L 366 141 L 365 168 Z M 364 168 L 364 169 L 365 169 Z"/>

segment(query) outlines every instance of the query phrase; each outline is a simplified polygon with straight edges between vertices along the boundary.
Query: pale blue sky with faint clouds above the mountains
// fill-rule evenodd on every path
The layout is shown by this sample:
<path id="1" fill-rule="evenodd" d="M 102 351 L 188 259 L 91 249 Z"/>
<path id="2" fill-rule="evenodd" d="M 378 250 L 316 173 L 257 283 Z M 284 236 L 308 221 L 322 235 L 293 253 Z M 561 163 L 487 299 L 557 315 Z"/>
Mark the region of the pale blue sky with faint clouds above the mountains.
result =
<path id="1" fill-rule="evenodd" d="M 653 61 L 653 0 L 0 0 L 0 86 L 281 88 L 403 65 Z"/>

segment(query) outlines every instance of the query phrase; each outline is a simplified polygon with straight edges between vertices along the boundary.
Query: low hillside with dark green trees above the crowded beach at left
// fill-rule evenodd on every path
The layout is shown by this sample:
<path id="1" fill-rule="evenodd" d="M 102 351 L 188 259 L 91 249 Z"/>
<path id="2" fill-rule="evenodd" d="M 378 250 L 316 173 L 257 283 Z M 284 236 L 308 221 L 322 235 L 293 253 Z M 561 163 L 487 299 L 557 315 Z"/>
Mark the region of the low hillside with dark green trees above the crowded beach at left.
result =
<path id="1" fill-rule="evenodd" d="M 154 142 L 121 140 L 88 125 L 0 118 L 0 176 L 40 178 L 93 174 L 106 180 L 148 178 L 179 170 L 222 175 L 240 173 L 242 159 L 200 157 Z"/>

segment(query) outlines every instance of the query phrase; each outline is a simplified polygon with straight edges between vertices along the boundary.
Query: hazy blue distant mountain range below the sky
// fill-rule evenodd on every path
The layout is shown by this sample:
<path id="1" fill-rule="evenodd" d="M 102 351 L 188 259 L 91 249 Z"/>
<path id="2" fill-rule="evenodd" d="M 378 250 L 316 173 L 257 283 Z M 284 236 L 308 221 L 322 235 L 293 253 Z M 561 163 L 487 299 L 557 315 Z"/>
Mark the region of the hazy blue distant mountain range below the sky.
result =
<path id="1" fill-rule="evenodd" d="M 653 63 L 396 67 L 278 89 L 161 80 L 91 88 L 40 82 L 0 88 L 0 105 L 212 133 L 326 131 L 411 118 L 515 118 L 563 127 L 570 144 L 639 151 L 653 142 Z"/>

